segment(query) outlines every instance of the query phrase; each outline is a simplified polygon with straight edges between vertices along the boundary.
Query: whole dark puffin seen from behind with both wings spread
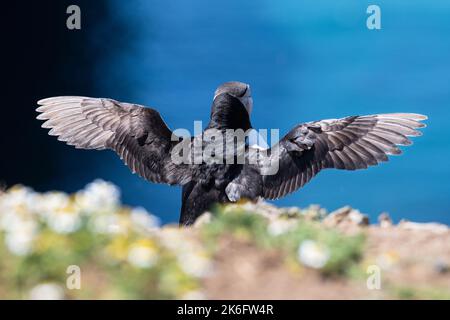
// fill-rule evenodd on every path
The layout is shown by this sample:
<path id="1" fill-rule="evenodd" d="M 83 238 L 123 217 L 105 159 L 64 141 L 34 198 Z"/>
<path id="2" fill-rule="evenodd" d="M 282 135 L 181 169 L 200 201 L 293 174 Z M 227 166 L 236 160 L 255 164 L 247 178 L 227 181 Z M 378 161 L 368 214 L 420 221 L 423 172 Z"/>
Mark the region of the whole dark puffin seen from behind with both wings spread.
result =
<path id="1" fill-rule="evenodd" d="M 80 149 L 114 150 L 133 173 L 146 180 L 181 185 L 181 225 L 192 224 L 216 202 L 283 197 L 322 169 L 365 169 L 387 161 L 388 155 L 401 153 L 397 145 L 411 144 L 408 136 L 421 135 L 415 129 L 425 127 L 419 121 L 427 119 L 420 114 L 390 113 L 299 124 L 267 151 L 263 159 L 273 160 L 276 154 L 278 170 L 266 174 L 267 161 L 176 163 L 172 153 L 178 153 L 186 139 L 174 136 L 151 108 L 77 96 L 47 98 L 38 104 L 37 118 L 46 120 L 42 127 L 51 128 L 49 134 L 58 140 Z M 249 85 L 222 84 L 215 92 L 203 135 L 211 130 L 251 129 L 252 106 Z M 196 138 L 187 140 L 188 147 Z M 246 160 L 254 150 L 245 143 Z"/>

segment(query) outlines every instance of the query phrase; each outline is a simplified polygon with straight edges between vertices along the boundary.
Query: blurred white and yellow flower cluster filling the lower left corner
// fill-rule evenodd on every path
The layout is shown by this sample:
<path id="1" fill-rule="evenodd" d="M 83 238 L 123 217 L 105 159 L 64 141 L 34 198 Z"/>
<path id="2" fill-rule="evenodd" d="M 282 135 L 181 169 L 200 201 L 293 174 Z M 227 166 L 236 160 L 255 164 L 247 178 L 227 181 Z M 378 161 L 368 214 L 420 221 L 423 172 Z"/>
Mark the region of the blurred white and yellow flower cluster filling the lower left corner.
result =
<path id="1" fill-rule="evenodd" d="M 187 232 L 122 206 L 102 180 L 73 195 L 24 186 L 0 194 L 2 298 L 198 298 L 211 263 Z M 81 290 L 66 285 L 71 265 Z"/>

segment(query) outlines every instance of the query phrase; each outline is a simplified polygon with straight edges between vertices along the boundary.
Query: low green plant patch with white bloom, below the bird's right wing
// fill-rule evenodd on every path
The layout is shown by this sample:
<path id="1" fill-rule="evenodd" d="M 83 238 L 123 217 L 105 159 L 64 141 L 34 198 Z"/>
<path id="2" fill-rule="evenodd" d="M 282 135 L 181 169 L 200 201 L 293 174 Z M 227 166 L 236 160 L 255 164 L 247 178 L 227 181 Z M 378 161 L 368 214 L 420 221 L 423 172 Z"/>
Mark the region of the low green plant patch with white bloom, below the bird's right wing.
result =
<path id="1" fill-rule="evenodd" d="M 317 206 L 281 214 L 263 215 L 263 210 L 251 202 L 217 206 L 213 223 L 204 227 L 205 243 L 215 244 L 223 235 L 255 241 L 262 248 L 285 252 L 288 263 L 298 260 L 323 275 L 346 274 L 362 257 L 364 235 L 345 236 L 324 228 L 319 221 L 325 213 Z"/>

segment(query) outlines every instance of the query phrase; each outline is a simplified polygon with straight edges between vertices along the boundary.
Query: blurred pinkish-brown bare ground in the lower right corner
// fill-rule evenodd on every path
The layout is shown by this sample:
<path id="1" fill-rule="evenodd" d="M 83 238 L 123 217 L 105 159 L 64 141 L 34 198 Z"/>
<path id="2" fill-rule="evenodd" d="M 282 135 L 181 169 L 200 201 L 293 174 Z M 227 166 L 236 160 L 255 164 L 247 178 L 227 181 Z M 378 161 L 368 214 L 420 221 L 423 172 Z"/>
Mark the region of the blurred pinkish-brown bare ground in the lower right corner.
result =
<path id="1" fill-rule="evenodd" d="M 210 299 L 450 299 L 450 231 L 438 224 L 389 222 L 335 226 L 366 234 L 358 276 L 324 277 L 291 270 L 279 252 L 222 240 L 213 275 L 204 281 Z M 368 289 L 367 266 L 380 268 L 380 289 Z"/>

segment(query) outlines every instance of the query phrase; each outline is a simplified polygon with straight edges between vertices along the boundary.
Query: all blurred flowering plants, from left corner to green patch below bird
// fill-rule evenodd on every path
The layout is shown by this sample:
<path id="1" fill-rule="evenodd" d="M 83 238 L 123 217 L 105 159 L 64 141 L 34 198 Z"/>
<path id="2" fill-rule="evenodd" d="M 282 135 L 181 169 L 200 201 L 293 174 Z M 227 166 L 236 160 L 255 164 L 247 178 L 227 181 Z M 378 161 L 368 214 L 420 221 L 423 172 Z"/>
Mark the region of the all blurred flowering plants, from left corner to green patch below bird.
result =
<path id="1" fill-rule="evenodd" d="M 194 228 L 160 227 L 101 180 L 73 195 L 15 186 L 0 194 L 0 297 L 202 299 L 223 237 L 279 251 L 291 270 L 343 275 L 358 263 L 364 237 L 320 226 L 325 215 L 317 206 L 243 202 L 217 206 Z M 81 290 L 66 285 L 73 266 Z"/>

